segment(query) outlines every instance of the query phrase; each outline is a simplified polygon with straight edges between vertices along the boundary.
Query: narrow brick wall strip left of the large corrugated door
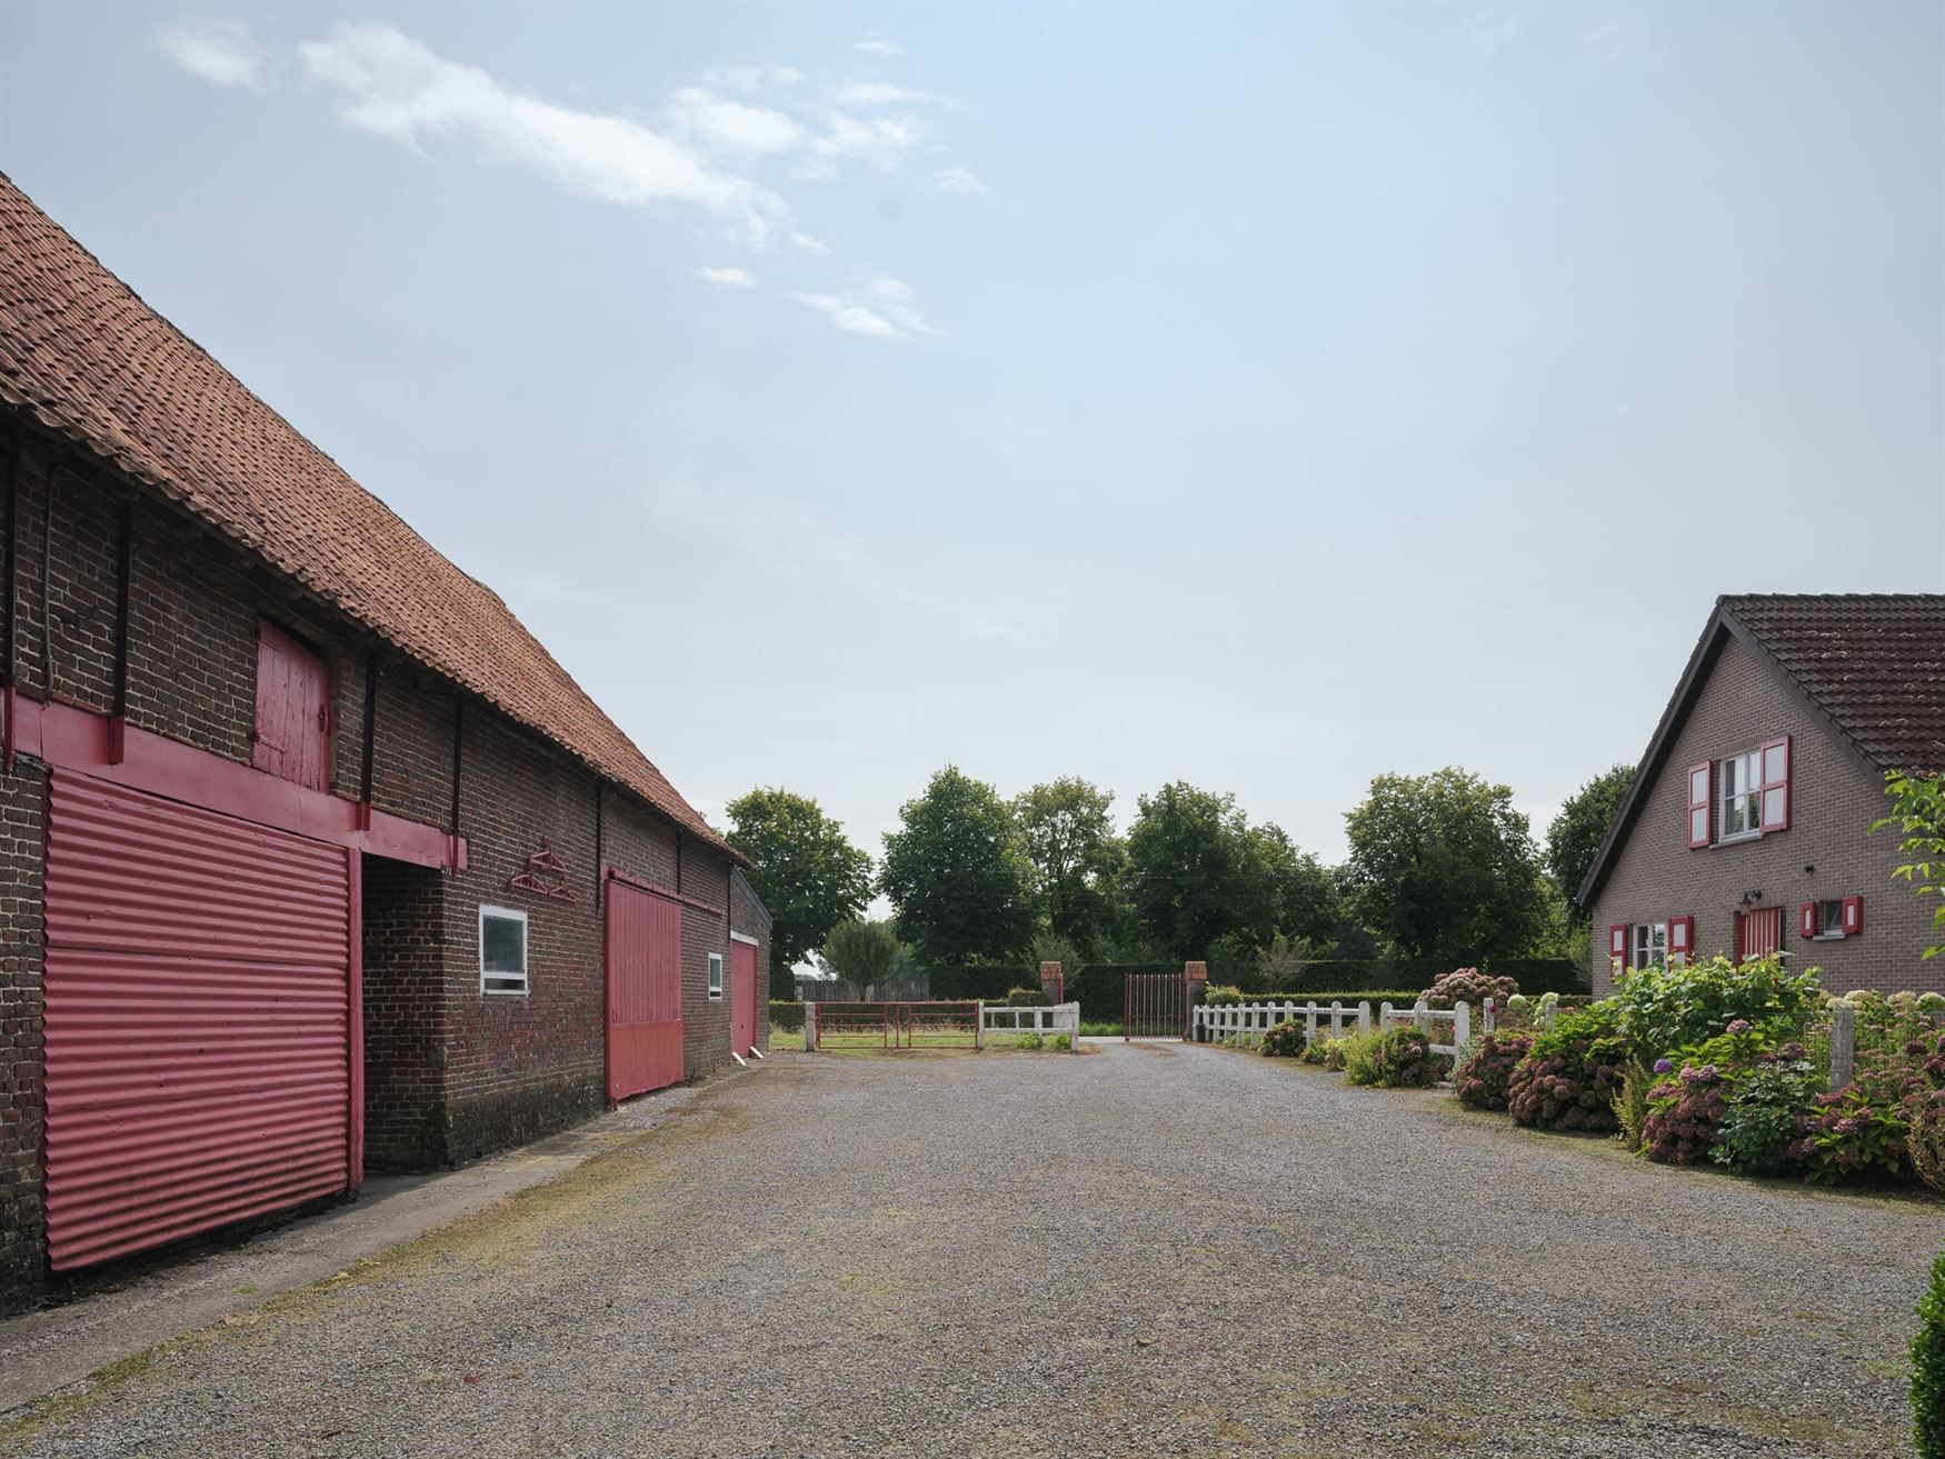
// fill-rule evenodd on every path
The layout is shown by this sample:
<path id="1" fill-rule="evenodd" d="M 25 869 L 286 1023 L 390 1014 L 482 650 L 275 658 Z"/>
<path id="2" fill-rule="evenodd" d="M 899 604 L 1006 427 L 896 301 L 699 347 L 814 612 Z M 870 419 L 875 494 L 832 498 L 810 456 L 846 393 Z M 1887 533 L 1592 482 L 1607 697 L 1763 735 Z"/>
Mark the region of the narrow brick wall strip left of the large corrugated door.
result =
<path id="1" fill-rule="evenodd" d="M 41 817 L 47 772 L 0 772 L 0 1313 L 45 1284 L 41 1245 Z"/>

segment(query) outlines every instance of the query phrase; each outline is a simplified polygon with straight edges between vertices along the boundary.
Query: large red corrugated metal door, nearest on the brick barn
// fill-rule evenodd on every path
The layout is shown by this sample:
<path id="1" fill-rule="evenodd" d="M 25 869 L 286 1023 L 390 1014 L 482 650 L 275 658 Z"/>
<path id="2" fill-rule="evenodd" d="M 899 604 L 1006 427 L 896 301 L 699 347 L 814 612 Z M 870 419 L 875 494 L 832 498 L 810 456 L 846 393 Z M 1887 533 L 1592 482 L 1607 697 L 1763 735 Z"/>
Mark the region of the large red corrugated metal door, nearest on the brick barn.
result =
<path id="1" fill-rule="evenodd" d="M 354 1185 L 346 852 L 64 770 L 51 798 L 49 1264 Z"/>

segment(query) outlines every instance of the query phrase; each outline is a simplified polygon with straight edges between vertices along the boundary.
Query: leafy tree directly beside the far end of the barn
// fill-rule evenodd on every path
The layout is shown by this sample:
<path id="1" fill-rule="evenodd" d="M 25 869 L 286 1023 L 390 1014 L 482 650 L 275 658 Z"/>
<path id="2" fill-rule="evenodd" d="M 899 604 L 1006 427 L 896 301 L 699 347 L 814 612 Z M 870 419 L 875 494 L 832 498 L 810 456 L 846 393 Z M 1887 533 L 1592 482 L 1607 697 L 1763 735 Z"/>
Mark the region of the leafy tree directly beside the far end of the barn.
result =
<path id="1" fill-rule="evenodd" d="M 753 862 L 749 885 L 774 918 L 770 996 L 796 998 L 792 967 L 871 901 L 871 858 L 809 796 L 759 786 L 727 811 L 727 840 Z"/>

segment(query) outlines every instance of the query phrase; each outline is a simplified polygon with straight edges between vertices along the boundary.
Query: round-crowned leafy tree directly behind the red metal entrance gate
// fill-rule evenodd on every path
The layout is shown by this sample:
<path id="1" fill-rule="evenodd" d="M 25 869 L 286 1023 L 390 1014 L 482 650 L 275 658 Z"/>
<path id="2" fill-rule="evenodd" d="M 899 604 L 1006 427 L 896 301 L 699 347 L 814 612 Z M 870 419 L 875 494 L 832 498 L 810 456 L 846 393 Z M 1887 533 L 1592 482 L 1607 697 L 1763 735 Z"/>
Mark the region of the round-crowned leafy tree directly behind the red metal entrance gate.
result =
<path id="1" fill-rule="evenodd" d="M 1183 780 L 1142 796 L 1128 831 L 1128 873 L 1136 922 L 1169 957 L 1208 957 L 1223 938 L 1255 947 L 1276 936 L 1272 856 L 1235 796 Z"/>

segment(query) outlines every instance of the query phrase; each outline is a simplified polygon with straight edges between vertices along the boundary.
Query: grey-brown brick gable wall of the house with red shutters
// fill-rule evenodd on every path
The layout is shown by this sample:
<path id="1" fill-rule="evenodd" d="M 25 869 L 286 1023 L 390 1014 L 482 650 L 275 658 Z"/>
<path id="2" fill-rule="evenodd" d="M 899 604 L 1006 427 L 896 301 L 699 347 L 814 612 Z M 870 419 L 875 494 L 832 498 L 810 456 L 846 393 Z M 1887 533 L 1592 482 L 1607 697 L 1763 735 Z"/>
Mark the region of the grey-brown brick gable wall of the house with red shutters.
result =
<path id="1" fill-rule="evenodd" d="M 1688 848 L 1690 765 L 1756 749 L 1791 735 L 1787 831 L 1727 846 Z M 1885 813 L 1883 782 L 1865 772 L 1750 650 L 1731 638 L 1675 737 L 1669 763 L 1647 790 L 1634 833 L 1593 908 L 1593 988 L 1614 986 L 1609 926 L 1694 916 L 1696 951 L 1735 955 L 1743 893 L 1784 912 L 1784 951 L 1793 967 L 1822 967 L 1824 986 L 1945 990 L 1945 961 L 1920 961 L 1929 918 L 1908 883 L 1892 881 L 1902 860 L 1891 833 L 1869 835 Z M 1805 942 L 1797 908 L 1807 901 L 1863 897 L 1863 934 Z"/>

